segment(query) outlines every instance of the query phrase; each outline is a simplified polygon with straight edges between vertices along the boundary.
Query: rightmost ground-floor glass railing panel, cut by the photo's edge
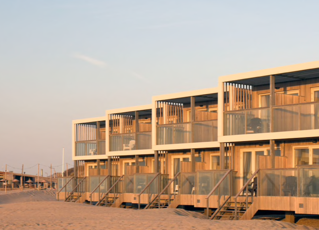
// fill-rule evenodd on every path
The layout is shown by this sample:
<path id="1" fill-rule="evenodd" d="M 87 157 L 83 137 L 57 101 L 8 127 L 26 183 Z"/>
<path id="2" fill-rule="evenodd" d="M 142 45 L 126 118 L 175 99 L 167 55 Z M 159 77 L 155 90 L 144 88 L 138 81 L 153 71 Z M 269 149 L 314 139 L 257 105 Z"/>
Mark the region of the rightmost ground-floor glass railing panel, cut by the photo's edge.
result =
<path id="1" fill-rule="evenodd" d="M 319 168 L 299 168 L 299 196 L 319 197 Z"/>

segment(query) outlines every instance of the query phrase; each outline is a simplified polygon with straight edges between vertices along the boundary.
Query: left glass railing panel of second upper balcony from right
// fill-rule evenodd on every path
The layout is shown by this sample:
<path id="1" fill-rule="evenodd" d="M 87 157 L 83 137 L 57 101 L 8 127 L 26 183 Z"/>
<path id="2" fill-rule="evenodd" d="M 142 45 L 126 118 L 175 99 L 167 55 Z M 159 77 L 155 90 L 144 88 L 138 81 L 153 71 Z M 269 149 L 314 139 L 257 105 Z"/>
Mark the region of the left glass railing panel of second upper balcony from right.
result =
<path id="1" fill-rule="evenodd" d="M 157 144 L 181 144 L 191 142 L 191 123 L 157 126 Z"/>

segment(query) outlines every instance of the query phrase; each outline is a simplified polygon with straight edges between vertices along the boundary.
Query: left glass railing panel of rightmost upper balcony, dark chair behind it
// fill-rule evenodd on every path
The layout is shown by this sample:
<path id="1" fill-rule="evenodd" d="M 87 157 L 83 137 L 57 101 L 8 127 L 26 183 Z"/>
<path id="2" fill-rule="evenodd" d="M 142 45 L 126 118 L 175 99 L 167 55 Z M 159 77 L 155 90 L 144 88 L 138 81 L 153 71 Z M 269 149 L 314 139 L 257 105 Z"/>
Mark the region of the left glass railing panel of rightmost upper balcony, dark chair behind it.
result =
<path id="1" fill-rule="evenodd" d="M 270 109 L 254 109 L 224 114 L 225 135 L 270 132 Z"/>

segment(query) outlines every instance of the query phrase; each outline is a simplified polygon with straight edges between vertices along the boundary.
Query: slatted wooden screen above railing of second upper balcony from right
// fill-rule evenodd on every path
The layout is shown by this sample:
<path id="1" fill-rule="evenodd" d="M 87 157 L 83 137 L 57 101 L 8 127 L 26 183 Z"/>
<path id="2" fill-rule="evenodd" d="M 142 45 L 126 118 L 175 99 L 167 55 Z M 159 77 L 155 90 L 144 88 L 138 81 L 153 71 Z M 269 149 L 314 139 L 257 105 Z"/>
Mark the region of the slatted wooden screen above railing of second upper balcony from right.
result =
<path id="1" fill-rule="evenodd" d="M 183 123 L 183 104 L 157 101 L 156 117 L 158 125 Z"/>

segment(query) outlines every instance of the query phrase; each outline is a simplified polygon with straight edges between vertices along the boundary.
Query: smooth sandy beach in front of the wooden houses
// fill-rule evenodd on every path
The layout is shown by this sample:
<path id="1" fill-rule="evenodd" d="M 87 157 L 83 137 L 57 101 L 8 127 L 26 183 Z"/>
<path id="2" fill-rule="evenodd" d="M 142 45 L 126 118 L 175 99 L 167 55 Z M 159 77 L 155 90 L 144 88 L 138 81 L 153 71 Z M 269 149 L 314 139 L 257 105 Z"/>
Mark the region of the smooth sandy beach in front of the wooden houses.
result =
<path id="1" fill-rule="evenodd" d="M 314 229 L 270 220 L 212 221 L 181 209 L 138 211 L 58 202 L 53 191 L 1 192 L 0 213 L 3 230 Z"/>

